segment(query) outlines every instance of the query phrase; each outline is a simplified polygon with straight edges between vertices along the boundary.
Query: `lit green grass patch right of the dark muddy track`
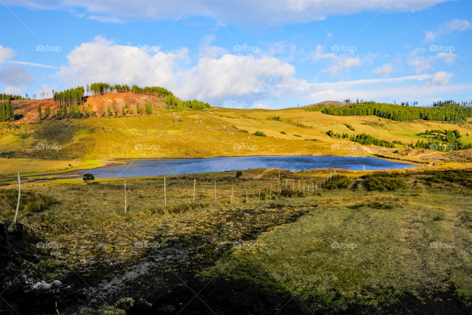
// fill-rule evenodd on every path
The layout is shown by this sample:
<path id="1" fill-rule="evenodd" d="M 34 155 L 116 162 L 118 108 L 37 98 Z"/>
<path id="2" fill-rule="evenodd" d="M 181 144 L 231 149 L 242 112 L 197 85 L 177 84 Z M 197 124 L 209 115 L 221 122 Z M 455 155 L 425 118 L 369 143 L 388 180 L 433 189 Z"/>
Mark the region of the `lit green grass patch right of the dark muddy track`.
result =
<path id="1" fill-rule="evenodd" d="M 455 288 L 470 305 L 472 233 L 464 218 L 471 212 L 464 209 L 472 194 L 455 193 L 328 192 L 344 200 L 263 233 L 257 249 L 235 249 L 205 275 L 287 289 L 314 304 L 377 306 Z"/>

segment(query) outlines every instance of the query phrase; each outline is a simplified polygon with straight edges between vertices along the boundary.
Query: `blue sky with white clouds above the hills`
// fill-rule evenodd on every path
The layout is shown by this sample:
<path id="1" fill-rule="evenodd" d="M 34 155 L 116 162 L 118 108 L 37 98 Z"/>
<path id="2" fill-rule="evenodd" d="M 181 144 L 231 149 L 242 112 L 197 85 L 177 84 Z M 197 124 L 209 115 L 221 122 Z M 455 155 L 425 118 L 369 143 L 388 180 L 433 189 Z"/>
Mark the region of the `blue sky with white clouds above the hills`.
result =
<path id="1" fill-rule="evenodd" d="M 215 106 L 472 99 L 470 0 L 0 0 L 0 92 L 162 86 Z"/>

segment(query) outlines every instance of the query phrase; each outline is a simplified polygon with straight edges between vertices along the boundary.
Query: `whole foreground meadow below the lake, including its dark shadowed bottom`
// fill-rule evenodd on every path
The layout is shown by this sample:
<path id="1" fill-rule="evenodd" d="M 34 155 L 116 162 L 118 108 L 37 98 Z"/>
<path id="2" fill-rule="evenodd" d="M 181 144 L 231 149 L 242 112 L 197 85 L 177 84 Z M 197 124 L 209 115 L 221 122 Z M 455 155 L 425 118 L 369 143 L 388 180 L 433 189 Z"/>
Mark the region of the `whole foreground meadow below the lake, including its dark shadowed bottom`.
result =
<path id="1" fill-rule="evenodd" d="M 20 314 L 471 311 L 470 169 L 242 173 L 167 176 L 167 206 L 163 177 L 128 178 L 126 214 L 122 179 L 26 183 L 17 225 L 3 186 L 2 278 L 70 286 L 7 277 L 4 298 Z"/>

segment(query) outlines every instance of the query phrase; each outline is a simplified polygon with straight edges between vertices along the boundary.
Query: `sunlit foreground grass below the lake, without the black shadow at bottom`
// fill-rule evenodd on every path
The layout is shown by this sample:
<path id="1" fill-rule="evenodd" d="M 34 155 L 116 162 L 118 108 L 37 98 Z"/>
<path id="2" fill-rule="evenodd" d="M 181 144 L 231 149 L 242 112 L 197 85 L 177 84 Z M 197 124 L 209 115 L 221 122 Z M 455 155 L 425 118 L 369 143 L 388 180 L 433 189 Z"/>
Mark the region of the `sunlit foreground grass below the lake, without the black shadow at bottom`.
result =
<path id="1" fill-rule="evenodd" d="M 19 222 L 29 237 L 21 249 L 13 246 L 2 275 L 24 272 L 38 281 L 70 283 L 77 274 L 81 283 L 99 287 L 130 266 L 178 250 L 188 254 L 145 272 L 139 285 L 136 280 L 121 294 L 180 292 L 179 281 L 172 284 L 165 274 L 170 269 L 289 294 L 310 310 L 382 307 L 405 296 L 429 303 L 438 292 L 471 306 L 470 170 L 377 172 L 378 183 L 404 185 L 374 182 L 371 191 L 363 188 L 362 172 L 346 171 L 349 188 L 303 193 L 303 184 L 328 172 L 282 171 L 281 185 L 289 183 L 283 194 L 293 189 L 298 197 L 292 198 L 275 193 L 277 170 L 244 171 L 240 179 L 235 172 L 167 177 L 167 207 L 162 177 L 128 178 L 126 215 L 122 180 L 28 183 Z M 16 197 L 14 186 L 0 189 L 0 221 L 10 230 Z M 38 249 L 39 241 L 61 247 Z M 147 243 L 158 246 L 136 246 Z M 26 254 L 38 259 L 25 261 Z"/>

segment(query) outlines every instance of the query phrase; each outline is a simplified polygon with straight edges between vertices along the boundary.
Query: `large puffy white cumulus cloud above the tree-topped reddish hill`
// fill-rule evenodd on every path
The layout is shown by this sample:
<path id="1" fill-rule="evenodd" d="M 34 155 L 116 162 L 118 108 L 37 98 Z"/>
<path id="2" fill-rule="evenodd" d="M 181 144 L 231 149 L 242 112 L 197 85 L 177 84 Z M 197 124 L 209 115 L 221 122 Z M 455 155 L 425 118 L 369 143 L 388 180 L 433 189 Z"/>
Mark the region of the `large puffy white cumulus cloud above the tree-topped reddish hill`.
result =
<path id="1" fill-rule="evenodd" d="M 211 40 L 211 38 L 207 38 Z M 207 49 L 207 45 L 204 45 Z M 210 56 L 210 57 L 208 57 Z M 295 67 L 274 57 L 224 54 L 219 58 L 204 54 L 197 64 L 183 69 L 188 50 L 149 55 L 136 47 L 117 45 L 103 37 L 83 43 L 67 55 L 57 77 L 70 83 L 91 82 L 158 85 L 180 97 L 207 101 L 234 96 L 277 95 L 272 82 L 284 82 Z M 69 83 L 69 84 L 70 84 Z"/>

